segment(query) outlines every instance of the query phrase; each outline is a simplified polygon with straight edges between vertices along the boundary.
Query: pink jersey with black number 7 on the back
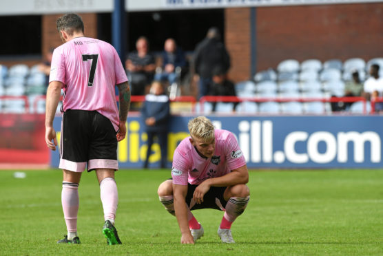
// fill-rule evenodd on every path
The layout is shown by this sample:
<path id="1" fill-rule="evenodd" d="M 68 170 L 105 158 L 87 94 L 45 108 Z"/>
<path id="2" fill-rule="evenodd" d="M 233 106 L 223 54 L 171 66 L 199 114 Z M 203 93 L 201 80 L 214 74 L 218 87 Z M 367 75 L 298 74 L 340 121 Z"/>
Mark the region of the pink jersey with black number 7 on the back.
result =
<path id="1" fill-rule="evenodd" d="M 49 81 L 63 83 L 63 111 L 99 111 L 118 129 L 115 85 L 127 76 L 114 47 L 89 37 L 77 37 L 57 47 Z"/>

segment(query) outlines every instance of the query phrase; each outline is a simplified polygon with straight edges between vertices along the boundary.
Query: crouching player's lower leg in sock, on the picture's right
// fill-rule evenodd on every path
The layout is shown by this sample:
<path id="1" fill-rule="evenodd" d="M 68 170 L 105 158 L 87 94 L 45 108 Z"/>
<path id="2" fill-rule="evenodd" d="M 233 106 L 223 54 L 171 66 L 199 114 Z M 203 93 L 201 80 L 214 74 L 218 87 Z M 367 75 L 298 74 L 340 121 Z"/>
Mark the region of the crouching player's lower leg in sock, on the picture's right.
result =
<path id="1" fill-rule="evenodd" d="M 222 222 L 220 224 L 221 229 L 230 229 L 231 224 L 236 220 L 236 218 L 245 211 L 247 203 L 249 202 L 250 197 L 246 198 L 230 198 L 226 204 L 226 211 L 222 217 Z"/>

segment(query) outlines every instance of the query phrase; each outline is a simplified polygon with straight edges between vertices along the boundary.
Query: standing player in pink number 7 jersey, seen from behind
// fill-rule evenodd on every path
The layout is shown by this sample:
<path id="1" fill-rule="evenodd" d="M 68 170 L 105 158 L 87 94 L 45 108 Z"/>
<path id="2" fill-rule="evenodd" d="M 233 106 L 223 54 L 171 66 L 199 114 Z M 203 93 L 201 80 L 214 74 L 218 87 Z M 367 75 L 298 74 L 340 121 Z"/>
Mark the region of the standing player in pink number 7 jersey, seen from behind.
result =
<path id="1" fill-rule="evenodd" d="M 118 169 L 117 141 L 126 134 L 130 89 L 120 58 L 112 45 L 84 36 L 84 25 L 77 14 L 57 20 L 63 45 L 54 50 L 47 92 L 45 141 L 56 150 L 53 118 L 64 91 L 61 125 L 60 165 L 63 169 L 61 203 L 68 235 L 58 243 L 80 244 L 77 235 L 79 182 L 81 173 L 96 171 L 100 184 L 108 244 L 121 244 L 114 218 L 118 193 L 114 171 Z M 115 86 L 120 107 L 117 109 Z M 53 142 L 52 142 L 53 140 Z"/>

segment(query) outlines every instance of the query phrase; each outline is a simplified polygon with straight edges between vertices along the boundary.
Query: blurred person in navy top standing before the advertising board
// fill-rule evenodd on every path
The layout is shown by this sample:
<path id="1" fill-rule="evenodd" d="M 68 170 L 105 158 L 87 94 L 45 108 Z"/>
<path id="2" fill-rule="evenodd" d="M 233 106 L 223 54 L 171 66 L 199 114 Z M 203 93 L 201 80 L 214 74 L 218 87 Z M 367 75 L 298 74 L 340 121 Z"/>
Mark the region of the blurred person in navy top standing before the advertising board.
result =
<path id="1" fill-rule="evenodd" d="M 150 92 L 145 96 L 141 115 L 145 123 L 147 133 L 147 153 L 144 168 L 149 164 L 149 156 L 152 152 L 153 138 L 157 136 L 161 148 L 161 168 L 166 167 L 167 161 L 167 132 L 170 118 L 169 97 L 165 95 L 163 84 L 154 81 Z"/>

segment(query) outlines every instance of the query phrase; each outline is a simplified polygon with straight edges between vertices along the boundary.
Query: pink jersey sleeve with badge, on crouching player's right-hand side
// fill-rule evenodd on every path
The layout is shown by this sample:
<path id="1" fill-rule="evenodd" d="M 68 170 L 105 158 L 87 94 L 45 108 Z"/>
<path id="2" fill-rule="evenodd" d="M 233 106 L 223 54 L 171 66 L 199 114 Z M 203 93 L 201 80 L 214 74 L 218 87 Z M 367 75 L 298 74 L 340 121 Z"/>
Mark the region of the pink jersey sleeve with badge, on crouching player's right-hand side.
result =
<path id="1" fill-rule="evenodd" d="M 236 137 L 231 133 L 227 136 L 225 143 L 225 156 L 230 170 L 237 169 L 246 164 L 245 156 L 243 156 Z"/>

